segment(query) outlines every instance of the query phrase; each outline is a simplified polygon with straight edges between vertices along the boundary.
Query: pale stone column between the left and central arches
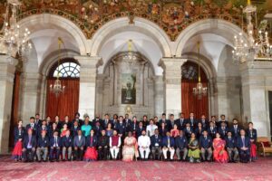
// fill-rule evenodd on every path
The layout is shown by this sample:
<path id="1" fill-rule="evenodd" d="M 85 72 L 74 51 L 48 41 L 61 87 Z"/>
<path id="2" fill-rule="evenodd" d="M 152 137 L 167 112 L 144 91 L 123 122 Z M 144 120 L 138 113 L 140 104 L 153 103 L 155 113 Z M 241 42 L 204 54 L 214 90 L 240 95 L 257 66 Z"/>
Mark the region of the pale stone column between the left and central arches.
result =
<path id="1" fill-rule="evenodd" d="M 75 56 L 81 65 L 79 112 L 83 118 L 88 114 L 90 119 L 95 116 L 95 88 L 97 68 L 102 64 L 101 57 Z"/>

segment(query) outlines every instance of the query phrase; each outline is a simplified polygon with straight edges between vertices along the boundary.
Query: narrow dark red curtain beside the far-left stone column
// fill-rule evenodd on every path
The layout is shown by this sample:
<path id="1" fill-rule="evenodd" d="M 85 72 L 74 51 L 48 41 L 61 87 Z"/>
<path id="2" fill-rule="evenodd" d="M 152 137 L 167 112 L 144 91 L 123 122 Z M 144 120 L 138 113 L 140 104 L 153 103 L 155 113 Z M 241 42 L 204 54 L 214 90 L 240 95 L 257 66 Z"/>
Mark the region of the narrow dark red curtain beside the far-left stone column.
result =
<path id="1" fill-rule="evenodd" d="M 20 77 L 19 71 L 15 72 L 14 90 L 13 90 L 13 102 L 12 112 L 10 120 L 10 132 L 9 132 L 9 147 L 14 147 L 14 129 L 18 123 L 18 109 L 19 109 L 19 93 L 20 93 Z"/>

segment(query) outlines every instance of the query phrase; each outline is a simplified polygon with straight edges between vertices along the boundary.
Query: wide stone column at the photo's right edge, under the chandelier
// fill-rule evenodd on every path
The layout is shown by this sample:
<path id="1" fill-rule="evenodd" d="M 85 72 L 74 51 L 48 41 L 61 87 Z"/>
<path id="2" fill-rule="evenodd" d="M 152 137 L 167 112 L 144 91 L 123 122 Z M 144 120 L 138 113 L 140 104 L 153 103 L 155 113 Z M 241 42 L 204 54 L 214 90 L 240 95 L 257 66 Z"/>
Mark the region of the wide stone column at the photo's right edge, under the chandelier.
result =
<path id="1" fill-rule="evenodd" d="M 272 90 L 272 62 L 244 62 L 240 65 L 243 118 L 252 121 L 258 136 L 269 137 L 268 90 Z"/>

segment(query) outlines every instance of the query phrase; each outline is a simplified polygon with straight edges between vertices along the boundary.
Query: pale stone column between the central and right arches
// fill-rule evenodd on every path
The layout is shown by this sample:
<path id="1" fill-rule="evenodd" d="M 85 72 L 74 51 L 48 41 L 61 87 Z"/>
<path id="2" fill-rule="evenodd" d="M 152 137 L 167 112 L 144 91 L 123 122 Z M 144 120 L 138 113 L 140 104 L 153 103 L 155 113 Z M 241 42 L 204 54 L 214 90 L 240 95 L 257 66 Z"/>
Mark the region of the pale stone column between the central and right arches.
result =
<path id="1" fill-rule="evenodd" d="M 162 58 L 159 65 L 163 68 L 165 113 L 174 114 L 175 118 L 181 111 L 181 66 L 187 59 Z"/>

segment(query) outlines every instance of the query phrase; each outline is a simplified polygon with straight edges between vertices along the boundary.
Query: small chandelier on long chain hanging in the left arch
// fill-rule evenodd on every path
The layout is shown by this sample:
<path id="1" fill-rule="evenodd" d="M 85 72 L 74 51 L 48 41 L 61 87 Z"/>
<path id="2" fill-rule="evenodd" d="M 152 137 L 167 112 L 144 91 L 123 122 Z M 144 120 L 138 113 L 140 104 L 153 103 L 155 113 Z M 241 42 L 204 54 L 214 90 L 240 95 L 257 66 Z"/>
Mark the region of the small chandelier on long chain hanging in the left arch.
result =
<path id="1" fill-rule="evenodd" d="M 61 45 L 63 44 L 62 38 L 58 38 L 58 45 L 59 45 L 59 54 L 58 54 L 58 68 L 57 68 L 57 79 L 54 81 L 53 85 L 50 85 L 50 91 L 55 94 L 56 97 L 58 97 L 62 92 L 65 90 L 65 86 L 62 85 L 62 82 L 60 81 L 60 51 L 61 51 Z"/>

